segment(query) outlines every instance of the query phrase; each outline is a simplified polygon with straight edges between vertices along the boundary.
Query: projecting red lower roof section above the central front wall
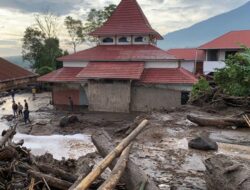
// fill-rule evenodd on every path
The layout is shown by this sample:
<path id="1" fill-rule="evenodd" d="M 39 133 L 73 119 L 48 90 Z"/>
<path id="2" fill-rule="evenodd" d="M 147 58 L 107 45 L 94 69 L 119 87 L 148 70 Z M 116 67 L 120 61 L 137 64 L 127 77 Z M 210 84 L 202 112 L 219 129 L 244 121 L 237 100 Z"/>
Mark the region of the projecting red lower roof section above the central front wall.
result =
<path id="1" fill-rule="evenodd" d="M 91 62 L 77 77 L 87 79 L 140 79 L 144 62 Z"/>

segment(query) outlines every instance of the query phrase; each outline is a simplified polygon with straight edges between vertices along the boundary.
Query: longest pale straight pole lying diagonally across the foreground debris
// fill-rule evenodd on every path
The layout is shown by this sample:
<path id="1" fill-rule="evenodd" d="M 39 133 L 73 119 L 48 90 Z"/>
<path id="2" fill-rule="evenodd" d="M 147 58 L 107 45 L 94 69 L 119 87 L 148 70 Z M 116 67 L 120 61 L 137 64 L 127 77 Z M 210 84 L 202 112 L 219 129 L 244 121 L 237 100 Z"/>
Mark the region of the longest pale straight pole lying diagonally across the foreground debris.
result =
<path id="1" fill-rule="evenodd" d="M 145 128 L 148 124 L 148 120 L 143 120 L 140 125 L 130 133 L 119 145 L 110 152 L 99 164 L 96 168 L 94 168 L 87 177 L 85 177 L 75 188 L 75 190 L 87 190 L 87 188 L 91 185 L 95 179 L 101 175 L 101 173 L 110 165 L 110 163 L 118 157 L 121 152 L 129 145 L 129 143 L 135 139 L 138 134 Z"/>

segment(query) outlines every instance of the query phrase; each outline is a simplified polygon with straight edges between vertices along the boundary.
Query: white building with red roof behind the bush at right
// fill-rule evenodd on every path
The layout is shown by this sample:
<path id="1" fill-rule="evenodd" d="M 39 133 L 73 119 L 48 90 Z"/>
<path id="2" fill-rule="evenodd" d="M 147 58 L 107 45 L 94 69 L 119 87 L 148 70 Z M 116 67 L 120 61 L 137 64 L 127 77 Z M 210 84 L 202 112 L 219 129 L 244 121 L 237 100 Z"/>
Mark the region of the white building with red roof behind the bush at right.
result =
<path id="1" fill-rule="evenodd" d="M 225 67 L 225 59 L 243 46 L 250 48 L 250 30 L 231 31 L 198 47 L 205 51 L 204 73 Z"/>

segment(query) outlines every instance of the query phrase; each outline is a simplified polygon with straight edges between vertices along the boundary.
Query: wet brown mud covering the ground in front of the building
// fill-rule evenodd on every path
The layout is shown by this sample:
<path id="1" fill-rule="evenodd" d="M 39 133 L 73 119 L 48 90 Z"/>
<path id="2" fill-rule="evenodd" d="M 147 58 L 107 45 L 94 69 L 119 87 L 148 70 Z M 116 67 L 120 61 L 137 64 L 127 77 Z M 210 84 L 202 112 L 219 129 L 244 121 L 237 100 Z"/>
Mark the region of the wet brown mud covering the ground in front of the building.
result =
<path id="1" fill-rule="evenodd" d="M 72 138 L 68 143 L 70 145 L 67 143 L 59 144 L 64 148 L 67 147 L 61 149 L 60 152 L 63 155 L 63 151 L 68 151 L 67 156 L 69 158 L 77 158 L 95 151 L 89 136 L 96 130 L 104 128 L 110 133 L 114 141 L 119 142 L 123 135 L 116 133 L 117 129 L 132 126 L 134 120 L 138 119 L 138 117 L 148 118 L 150 124 L 135 140 L 130 157 L 163 190 L 206 189 L 203 160 L 214 154 L 221 153 L 250 159 L 250 129 L 199 127 L 186 119 L 187 114 L 190 113 L 204 116 L 231 116 L 241 113 L 242 110 L 240 109 L 225 108 L 217 110 L 214 108 L 183 106 L 168 112 L 147 114 L 74 113 L 78 116 L 80 122 L 61 128 L 59 126 L 60 118 L 69 113 L 57 111 L 53 106 L 49 105 L 51 98 L 49 93 L 38 94 L 35 101 L 32 101 L 30 94 L 16 96 L 17 101 L 23 102 L 24 98 L 28 99 L 30 104 L 32 123 L 25 125 L 21 119 L 16 119 L 14 122 L 19 123 L 19 135 L 24 139 L 32 136 L 38 142 L 42 142 L 43 139 L 49 141 L 49 139 L 57 136 L 52 141 L 56 142 L 58 138 L 64 138 L 64 135 L 67 135 L 68 138 Z M 0 117 L 11 113 L 11 99 L 9 97 L 5 99 L 6 103 L 0 106 Z M 0 121 L 1 127 L 6 124 L 10 125 L 11 122 L 5 122 L 4 124 L 3 121 Z M 219 143 L 217 152 L 198 151 L 188 148 L 188 140 L 204 133 Z M 74 138 L 75 135 L 84 135 L 84 137 L 78 136 L 79 138 Z M 50 136 L 50 138 L 46 138 L 46 136 Z M 83 140 L 85 137 L 87 138 L 86 141 Z M 40 151 L 42 151 L 41 149 Z M 53 146 L 51 149 L 53 149 Z M 82 151 L 82 155 L 76 155 L 73 151 L 81 149 L 86 150 Z M 60 157 L 60 152 L 57 157 Z M 96 156 L 93 159 L 99 160 L 100 157 Z"/>

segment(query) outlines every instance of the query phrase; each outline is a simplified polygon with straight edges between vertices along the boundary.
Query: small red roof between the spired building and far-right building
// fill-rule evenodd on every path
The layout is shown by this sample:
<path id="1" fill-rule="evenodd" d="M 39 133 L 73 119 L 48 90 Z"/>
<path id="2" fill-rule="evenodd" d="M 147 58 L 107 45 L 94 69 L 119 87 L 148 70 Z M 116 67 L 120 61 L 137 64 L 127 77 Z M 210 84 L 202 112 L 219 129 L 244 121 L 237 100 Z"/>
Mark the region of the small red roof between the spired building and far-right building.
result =
<path id="1" fill-rule="evenodd" d="M 184 59 L 187 61 L 205 60 L 205 52 L 196 48 L 169 49 L 167 50 L 167 53 L 175 56 L 178 59 Z"/>

